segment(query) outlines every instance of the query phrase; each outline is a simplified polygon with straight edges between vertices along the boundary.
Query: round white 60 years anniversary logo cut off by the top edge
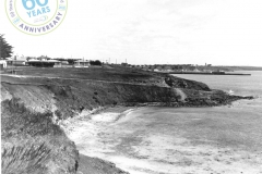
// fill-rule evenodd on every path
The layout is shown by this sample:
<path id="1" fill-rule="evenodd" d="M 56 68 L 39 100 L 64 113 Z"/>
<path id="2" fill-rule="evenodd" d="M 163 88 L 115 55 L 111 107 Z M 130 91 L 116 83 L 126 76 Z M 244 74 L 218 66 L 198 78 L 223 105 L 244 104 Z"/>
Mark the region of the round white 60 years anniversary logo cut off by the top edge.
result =
<path id="1" fill-rule="evenodd" d="M 67 10 L 68 0 L 5 0 L 5 12 L 14 27 L 35 36 L 56 29 Z"/>

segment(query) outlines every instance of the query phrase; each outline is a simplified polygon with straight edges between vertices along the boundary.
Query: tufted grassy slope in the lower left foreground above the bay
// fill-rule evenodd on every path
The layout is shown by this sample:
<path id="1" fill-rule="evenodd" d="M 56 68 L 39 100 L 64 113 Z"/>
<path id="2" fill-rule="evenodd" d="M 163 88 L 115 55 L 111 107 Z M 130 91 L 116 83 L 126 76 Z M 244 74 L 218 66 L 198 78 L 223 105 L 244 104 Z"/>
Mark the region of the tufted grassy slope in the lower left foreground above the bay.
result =
<path id="1" fill-rule="evenodd" d="M 16 98 L 1 103 L 2 173 L 74 173 L 78 151 L 52 113 L 27 110 Z"/>

